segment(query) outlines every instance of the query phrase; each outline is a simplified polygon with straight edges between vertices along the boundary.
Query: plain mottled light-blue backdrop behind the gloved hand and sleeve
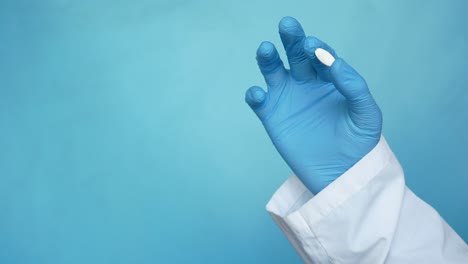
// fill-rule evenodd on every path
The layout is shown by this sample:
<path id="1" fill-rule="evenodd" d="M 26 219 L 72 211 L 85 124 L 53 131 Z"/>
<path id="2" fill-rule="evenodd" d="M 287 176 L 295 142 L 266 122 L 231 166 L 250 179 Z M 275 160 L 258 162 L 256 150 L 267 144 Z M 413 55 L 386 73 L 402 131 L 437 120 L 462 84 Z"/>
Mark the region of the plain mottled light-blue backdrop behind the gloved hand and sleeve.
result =
<path id="1" fill-rule="evenodd" d="M 467 8 L 1 0 L 0 263 L 301 263 L 265 212 L 291 172 L 243 101 L 285 15 L 365 76 L 408 185 L 466 241 Z"/>

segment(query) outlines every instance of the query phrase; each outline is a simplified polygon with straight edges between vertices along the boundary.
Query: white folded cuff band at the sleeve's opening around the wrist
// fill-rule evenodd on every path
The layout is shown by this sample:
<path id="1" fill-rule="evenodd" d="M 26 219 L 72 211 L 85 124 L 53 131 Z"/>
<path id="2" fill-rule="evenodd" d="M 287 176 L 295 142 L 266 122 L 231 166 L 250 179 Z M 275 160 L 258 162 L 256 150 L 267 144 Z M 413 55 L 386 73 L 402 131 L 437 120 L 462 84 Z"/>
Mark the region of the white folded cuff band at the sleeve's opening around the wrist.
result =
<path id="1" fill-rule="evenodd" d="M 313 235 L 312 226 L 320 222 L 353 194 L 363 189 L 394 157 L 385 138 L 358 163 L 314 196 L 299 178 L 292 175 L 275 192 L 266 209 L 274 219 L 295 230 Z"/>

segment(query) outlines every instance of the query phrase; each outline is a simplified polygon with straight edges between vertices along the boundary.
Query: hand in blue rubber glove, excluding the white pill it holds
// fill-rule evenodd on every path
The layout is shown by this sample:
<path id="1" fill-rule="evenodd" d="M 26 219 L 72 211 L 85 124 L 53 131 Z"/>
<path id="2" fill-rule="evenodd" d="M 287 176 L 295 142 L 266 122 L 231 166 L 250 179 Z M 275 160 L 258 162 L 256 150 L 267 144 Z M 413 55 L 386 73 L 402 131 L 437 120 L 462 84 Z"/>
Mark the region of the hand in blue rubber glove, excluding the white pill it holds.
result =
<path id="1" fill-rule="evenodd" d="M 283 159 L 317 194 L 377 145 L 382 114 L 365 80 L 327 44 L 306 38 L 294 18 L 283 18 L 279 33 L 290 70 L 274 45 L 263 42 L 257 62 L 268 92 L 251 87 L 245 100 Z M 317 48 L 336 58 L 330 67 L 318 60 Z"/>

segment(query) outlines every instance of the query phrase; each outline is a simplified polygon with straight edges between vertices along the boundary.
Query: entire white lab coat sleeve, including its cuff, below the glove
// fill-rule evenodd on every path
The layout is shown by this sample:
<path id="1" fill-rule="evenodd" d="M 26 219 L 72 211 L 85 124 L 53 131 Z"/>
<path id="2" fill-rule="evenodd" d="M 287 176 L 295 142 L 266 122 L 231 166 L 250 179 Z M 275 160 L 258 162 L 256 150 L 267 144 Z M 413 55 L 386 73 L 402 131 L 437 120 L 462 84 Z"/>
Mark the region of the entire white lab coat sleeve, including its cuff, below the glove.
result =
<path id="1" fill-rule="evenodd" d="M 468 263 L 468 246 L 405 185 L 382 137 L 317 195 L 291 176 L 267 211 L 305 263 Z"/>

